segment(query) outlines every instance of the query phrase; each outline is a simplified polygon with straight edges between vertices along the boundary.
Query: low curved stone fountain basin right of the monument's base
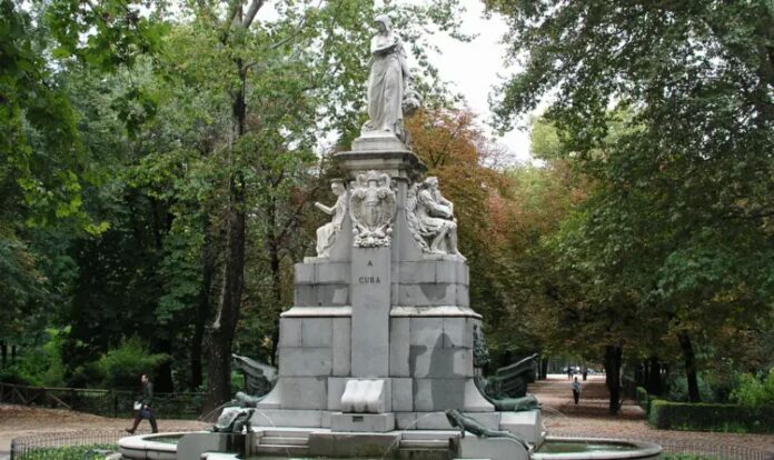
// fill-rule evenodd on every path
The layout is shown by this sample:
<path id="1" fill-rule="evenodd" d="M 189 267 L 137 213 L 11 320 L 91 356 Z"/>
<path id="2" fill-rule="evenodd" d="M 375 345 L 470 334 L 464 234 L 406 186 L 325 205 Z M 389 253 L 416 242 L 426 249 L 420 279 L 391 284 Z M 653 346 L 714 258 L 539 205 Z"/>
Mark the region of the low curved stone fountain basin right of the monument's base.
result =
<path id="1" fill-rule="evenodd" d="M 624 439 L 546 437 L 529 456 L 533 460 L 657 459 L 658 444 Z"/>

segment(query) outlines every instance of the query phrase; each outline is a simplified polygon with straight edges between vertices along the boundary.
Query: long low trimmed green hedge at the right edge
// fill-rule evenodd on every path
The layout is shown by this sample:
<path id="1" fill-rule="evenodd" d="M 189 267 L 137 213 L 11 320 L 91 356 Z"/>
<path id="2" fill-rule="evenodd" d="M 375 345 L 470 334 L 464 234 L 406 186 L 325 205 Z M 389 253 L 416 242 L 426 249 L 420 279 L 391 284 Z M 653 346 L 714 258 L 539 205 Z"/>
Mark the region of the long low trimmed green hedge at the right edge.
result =
<path id="1" fill-rule="evenodd" d="M 651 399 L 648 423 L 661 430 L 774 433 L 774 406 L 672 402 Z"/>

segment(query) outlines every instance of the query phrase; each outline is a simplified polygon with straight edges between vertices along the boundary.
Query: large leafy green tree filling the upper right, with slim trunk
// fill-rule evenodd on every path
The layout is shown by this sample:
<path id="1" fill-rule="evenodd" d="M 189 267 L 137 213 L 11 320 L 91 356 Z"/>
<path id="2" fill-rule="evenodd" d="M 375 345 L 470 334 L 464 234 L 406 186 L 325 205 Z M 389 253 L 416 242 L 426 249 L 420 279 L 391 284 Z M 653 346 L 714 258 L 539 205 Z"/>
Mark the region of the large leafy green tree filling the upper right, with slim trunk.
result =
<path id="1" fill-rule="evenodd" d="M 609 292 L 632 294 L 619 308 L 647 312 L 679 344 L 698 400 L 696 347 L 771 309 L 771 4 L 487 4 L 526 56 L 499 121 L 556 89 L 546 117 L 598 181 L 576 233 L 598 250 L 582 260 L 622 269 Z"/>

